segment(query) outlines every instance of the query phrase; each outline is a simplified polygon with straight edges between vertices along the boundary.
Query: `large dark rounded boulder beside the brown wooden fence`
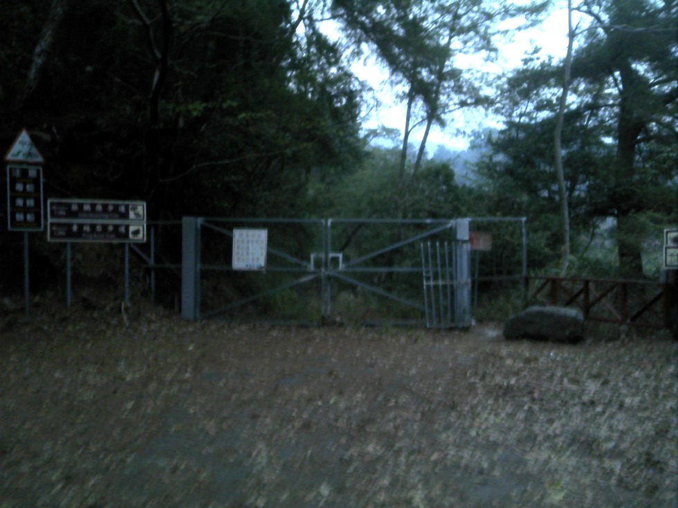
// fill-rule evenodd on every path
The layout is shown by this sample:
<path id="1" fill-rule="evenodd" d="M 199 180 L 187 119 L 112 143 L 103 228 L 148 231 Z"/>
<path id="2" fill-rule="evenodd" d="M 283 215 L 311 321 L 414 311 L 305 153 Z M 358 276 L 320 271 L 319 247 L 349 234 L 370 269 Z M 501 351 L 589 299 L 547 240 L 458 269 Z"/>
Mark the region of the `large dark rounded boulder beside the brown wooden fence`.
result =
<path id="1" fill-rule="evenodd" d="M 504 337 L 576 344 L 584 338 L 584 316 L 576 309 L 535 305 L 504 323 Z"/>

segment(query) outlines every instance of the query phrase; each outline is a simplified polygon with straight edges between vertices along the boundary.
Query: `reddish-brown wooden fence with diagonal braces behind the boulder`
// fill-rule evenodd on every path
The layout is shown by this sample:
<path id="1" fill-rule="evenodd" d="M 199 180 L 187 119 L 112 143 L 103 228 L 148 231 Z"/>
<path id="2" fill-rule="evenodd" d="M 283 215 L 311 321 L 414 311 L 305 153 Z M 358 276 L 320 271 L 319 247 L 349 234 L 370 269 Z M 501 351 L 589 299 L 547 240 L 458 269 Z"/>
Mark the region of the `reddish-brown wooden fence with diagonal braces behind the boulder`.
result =
<path id="1" fill-rule="evenodd" d="M 678 288 L 675 284 L 583 279 L 578 277 L 526 277 L 528 303 L 576 305 L 584 319 L 626 326 L 678 330 Z"/>

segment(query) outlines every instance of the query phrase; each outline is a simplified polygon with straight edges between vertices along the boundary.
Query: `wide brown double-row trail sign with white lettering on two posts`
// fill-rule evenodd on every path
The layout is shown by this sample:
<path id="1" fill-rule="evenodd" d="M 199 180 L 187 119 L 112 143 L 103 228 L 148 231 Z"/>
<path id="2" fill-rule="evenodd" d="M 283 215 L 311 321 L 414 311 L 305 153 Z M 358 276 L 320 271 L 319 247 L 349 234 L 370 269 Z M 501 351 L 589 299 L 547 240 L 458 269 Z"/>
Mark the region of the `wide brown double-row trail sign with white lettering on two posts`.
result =
<path id="1" fill-rule="evenodd" d="M 143 201 L 50 199 L 47 217 L 51 242 L 146 241 Z"/>

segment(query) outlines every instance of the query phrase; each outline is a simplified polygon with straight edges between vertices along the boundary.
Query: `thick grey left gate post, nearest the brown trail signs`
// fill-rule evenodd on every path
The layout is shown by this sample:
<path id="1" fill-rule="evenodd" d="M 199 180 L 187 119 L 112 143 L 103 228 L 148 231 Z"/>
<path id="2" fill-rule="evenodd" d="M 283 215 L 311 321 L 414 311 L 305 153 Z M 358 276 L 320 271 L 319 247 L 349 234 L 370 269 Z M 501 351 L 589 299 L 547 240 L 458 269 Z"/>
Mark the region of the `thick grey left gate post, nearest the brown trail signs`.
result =
<path id="1" fill-rule="evenodd" d="M 181 317 L 200 319 L 200 219 L 181 218 Z"/>

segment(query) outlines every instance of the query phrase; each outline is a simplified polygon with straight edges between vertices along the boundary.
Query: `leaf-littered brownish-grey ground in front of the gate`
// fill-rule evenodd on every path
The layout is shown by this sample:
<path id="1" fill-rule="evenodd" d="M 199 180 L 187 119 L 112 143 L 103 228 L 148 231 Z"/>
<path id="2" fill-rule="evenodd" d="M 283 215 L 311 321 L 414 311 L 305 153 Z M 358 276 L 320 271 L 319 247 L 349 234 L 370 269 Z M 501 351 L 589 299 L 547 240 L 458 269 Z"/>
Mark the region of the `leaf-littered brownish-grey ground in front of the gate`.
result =
<path id="1" fill-rule="evenodd" d="M 675 507 L 676 343 L 0 317 L 0 508 Z"/>

